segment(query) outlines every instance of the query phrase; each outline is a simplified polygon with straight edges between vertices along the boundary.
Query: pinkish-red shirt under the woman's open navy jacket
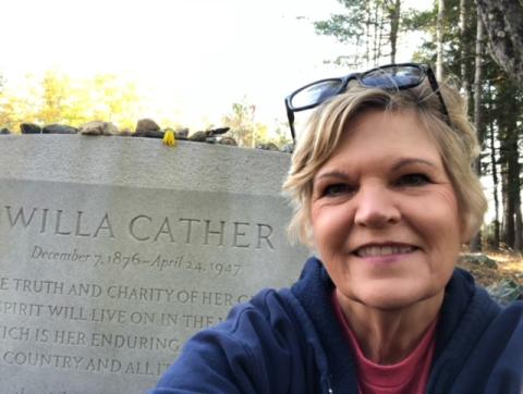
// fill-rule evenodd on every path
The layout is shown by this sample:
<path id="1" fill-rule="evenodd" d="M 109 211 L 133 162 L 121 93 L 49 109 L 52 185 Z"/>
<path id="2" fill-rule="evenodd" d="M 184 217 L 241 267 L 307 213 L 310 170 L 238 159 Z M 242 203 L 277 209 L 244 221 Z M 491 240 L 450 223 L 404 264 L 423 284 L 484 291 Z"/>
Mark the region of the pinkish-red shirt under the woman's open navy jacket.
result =
<path id="1" fill-rule="evenodd" d="M 336 316 L 354 349 L 357 381 L 362 394 L 422 394 L 427 386 L 428 374 L 433 364 L 435 331 L 437 319 L 427 329 L 417 347 L 404 360 L 389 366 L 381 366 L 367 359 L 356 337 L 349 327 L 336 291 L 332 293 Z"/>

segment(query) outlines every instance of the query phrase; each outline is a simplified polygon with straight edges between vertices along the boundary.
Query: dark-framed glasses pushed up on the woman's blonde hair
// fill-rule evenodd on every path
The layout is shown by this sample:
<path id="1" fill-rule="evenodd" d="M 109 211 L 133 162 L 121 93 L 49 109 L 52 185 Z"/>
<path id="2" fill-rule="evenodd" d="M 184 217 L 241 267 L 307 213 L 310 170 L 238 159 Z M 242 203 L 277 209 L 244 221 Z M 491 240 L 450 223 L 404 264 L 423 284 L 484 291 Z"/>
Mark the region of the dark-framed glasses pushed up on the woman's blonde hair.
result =
<path id="1" fill-rule="evenodd" d="M 340 95 L 348 89 L 351 81 L 360 86 L 381 88 L 385 90 L 403 90 L 421 85 L 428 78 L 430 87 L 441 102 L 441 113 L 450 125 L 449 113 L 443 97 L 439 91 L 438 82 L 433 70 L 426 64 L 401 63 L 388 64 L 363 73 L 352 73 L 340 78 L 326 78 L 313 82 L 295 90 L 285 98 L 287 116 L 291 127 L 292 140 L 295 141 L 294 112 L 315 108 L 327 99 Z"/>

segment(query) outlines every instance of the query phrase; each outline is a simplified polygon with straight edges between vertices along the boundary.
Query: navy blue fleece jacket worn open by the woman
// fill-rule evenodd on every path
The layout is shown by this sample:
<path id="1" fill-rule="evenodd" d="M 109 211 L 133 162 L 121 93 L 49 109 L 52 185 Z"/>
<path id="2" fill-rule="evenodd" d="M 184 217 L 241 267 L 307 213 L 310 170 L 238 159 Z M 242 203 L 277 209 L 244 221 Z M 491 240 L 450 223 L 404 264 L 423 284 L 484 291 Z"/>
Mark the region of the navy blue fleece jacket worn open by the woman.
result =
<path id="1" fill-rule="evenodd" d="M 150 394 L 357 393 L 355 361 L 316 258 L 191 338 Z M 446 287 L 427 393 L 523 393 L 523 303 L 501 309 L 455 269 Z"/>

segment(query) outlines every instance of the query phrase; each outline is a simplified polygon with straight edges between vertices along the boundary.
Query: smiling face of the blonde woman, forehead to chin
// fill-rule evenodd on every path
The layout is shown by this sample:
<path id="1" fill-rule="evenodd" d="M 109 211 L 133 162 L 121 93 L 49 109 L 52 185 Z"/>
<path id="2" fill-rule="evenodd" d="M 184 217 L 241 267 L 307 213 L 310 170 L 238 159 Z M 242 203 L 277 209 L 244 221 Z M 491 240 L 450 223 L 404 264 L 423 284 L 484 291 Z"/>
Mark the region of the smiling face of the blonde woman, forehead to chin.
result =
<path id="1" fill-rule="evenodd" d="M 414 112 L 367 111 L 314 177 L 314 242 L 338 291 L 380 308 L 437 296 L 463 238 L 454 189 Z"/>

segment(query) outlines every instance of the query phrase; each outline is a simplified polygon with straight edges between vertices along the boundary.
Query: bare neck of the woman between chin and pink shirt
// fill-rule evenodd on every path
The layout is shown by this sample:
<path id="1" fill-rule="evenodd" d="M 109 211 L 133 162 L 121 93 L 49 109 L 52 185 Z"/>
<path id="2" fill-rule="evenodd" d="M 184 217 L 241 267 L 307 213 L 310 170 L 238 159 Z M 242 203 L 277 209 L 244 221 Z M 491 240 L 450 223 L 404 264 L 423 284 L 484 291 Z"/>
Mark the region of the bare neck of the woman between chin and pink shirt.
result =
<path id="1" fill-rule="evenodd" d="M 437 318 L 443 300 L 441 291 L 403 309 L 376 309 L 346 298 L 337 291 L 341 310 L 367 359 L 380 365 L 397 364 L 417 346 Z"/>

